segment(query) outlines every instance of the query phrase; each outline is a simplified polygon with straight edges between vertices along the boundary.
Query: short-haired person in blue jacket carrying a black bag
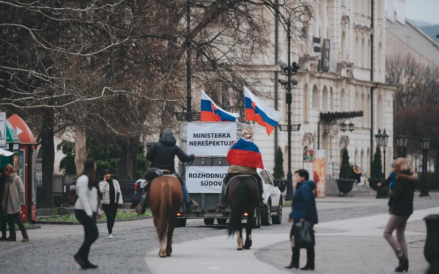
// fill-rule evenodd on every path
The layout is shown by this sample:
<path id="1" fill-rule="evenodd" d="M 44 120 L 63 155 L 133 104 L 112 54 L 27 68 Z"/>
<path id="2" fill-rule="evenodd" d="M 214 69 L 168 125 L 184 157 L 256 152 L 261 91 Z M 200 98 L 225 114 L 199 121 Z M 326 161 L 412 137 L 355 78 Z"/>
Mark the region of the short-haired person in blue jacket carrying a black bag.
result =
<path id="1" fill-rule="evenodd" d="M 314 189 L 316 189 L 316 183 L 309 181 L 309 173 L 304 169 L 299 169 L 296 174 L 296 192 L 293 194 L 293 200 L 291 201 L 292 211 L 288 215 L 288 222 L 293 221 L 291 227 L 290 237 L 295 235 L 295 223 L 301 221 L 308 221 L 311 223 L 311 228 L 318 223 L 316 200 L 314 198 Z M 300 249 L 294 247 L 294 240 L 291 237 L 293 255 L 291 256 L 290 265 L 285 268 L 299 268 Z M 314 270 L 314 246 L 306 249 L 306 265 L 301 270 Z"/>

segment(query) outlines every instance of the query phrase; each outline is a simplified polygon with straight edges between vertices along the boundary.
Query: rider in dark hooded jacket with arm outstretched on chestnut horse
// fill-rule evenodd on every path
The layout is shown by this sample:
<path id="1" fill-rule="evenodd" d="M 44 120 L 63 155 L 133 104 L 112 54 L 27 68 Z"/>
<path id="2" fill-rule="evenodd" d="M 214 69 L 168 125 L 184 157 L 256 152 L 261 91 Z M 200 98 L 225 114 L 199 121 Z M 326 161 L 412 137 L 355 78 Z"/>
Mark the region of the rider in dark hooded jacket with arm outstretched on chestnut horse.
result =
<path id="1" fill-rule="evenodd" d="M 163 129 L 163 133 L 159 142 L 154 143 L 146 153 L 146 159 L 152 162 L 150 167 L 157 167 L 160 169 L 169 170 L 171 173 L 178 175 L 174 168 L 174 158 L 177 155 L 181 162 L 194 161 L 196 156 L 194 154 L 186 155 L 180 147 L 176 146 L 176 140 L 173 136 L 171 128 Z M 196 210 L 198 203 L 189 197 L 186 183 L 177 176 L 181 182 L 181 189 L 183 190 L 183 201 L 186 204 L 188 212 Z"/>

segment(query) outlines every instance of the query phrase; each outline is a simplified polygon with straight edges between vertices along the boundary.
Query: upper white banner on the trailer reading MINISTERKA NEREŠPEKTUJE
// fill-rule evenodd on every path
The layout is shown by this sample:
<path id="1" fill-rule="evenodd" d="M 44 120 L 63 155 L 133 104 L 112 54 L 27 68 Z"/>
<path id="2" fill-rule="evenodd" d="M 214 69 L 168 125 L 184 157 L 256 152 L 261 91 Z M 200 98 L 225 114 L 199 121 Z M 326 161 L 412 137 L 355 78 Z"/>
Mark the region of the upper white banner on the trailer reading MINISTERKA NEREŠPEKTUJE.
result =
<path id="1" fill-rule="evenodd" d="M 227 156 L 236 141 L 235 123 L 189 123 L 187 154 L 197 156 Z"/>

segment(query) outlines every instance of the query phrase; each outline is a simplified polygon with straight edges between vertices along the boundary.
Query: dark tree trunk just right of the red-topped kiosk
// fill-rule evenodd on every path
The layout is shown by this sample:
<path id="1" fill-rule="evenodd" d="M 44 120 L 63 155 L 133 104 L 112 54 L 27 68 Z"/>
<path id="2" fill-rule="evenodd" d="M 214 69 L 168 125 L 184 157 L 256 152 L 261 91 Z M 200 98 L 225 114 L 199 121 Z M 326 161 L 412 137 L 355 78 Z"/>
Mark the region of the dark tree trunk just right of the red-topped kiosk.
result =
<path id="1" fill-rule="evenodd" d="M 52 208 L 53 204 L 53 168 L 55 164 L 54 135 L 54 110 L 44 109 L 42 111 L 41 127 L 41 149 L 42 149 L 42 181 L 46 185 L 47 207 Z"/>

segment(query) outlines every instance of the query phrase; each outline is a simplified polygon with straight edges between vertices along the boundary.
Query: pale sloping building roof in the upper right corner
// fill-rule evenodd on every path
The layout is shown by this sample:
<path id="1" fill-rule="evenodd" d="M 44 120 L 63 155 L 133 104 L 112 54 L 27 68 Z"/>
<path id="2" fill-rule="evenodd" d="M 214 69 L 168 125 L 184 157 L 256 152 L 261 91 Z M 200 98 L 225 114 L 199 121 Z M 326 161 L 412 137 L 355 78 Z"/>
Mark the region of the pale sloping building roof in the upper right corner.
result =
<path id="1" fill-rule="evenodd" d="M 409 19 L 405 19 L 405 24 L 401 24 L 398 20 L 392 22 L 387 19 L 386 31 L 399 38 L 399 40 L 407 44 L 419 55 L 424 56 L 439 66 L 439 43 L 429 37 Z"/>

